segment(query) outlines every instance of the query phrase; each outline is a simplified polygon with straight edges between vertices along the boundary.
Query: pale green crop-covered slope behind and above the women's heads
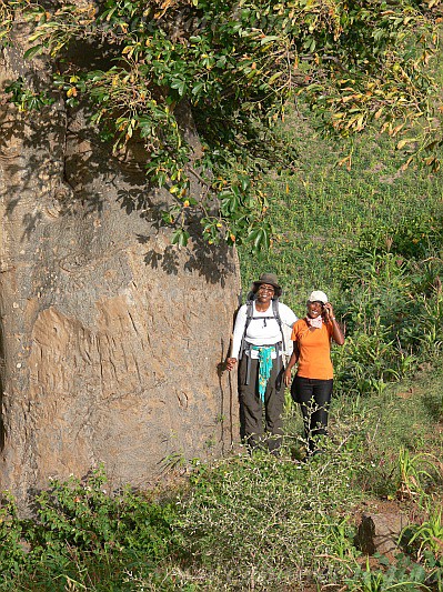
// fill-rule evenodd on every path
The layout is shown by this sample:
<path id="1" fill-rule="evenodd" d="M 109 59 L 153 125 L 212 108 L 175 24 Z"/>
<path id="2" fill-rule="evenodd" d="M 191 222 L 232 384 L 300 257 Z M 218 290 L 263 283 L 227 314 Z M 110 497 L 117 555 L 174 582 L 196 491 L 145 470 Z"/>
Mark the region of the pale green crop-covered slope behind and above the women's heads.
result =
<path id="1" fill-rule="evenodd" d="M 313 285 L 322 284 L 336 300 L 346 273 L 339 263 L 362 232 L 373 233 L 374 247 L 383 245 L 391 229 L 406 233 L 443 212 L 441 172 L 414 164 L 402 170 L 406 157 L 386 134 L 335 143 L 321 138 L 312 117 L 300 112 L 289 117 L 282 134 L 296 159 L 291 171 L 268 180 L 276 240 L 259 255 L 240 248 L 244 285 L 272 268 L 294 308 L 303 310 Z M 339 164 L 348 154 L 350 168 L 348 160 Z"/>

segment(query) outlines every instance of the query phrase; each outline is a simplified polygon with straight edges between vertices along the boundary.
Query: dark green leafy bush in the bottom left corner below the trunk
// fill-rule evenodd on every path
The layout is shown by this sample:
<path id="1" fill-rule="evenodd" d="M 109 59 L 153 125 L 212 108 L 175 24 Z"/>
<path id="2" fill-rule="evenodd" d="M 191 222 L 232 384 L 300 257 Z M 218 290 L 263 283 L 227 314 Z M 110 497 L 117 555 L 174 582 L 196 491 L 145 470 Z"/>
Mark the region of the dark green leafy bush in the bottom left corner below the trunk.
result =
<path id="1" fill-rule="evenodd" d="M 132 566 L 154 571 L 174 548 L 174 508 L 130 489 L 111 494 L 103 469 L 84 480 L 53 480 L 33 499 L 36 520 L 19 520 L 12 502 L 3 510 L 3 590 L 43 581 L 100 588 L 101 579 L 123 585 Z M 179 539 L 177 539 L 177 542 Z M 27 548 L 27 551 L 24 550 Z M 85 569 L 88 566 L 88 569 Z"/>

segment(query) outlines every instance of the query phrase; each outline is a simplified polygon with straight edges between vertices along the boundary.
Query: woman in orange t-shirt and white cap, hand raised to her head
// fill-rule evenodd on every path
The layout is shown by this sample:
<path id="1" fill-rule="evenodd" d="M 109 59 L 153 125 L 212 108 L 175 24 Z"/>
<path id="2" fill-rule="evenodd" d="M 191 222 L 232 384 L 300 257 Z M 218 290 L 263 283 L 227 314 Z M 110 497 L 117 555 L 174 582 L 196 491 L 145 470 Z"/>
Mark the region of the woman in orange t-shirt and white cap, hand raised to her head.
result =
<path id="1" fill-rule="evenodd" d="M 308 314 L 292 329 L 294 351 L 283 374 L 286 387 L 291 383 L 291 370 L 298 363 L 291 385 L 292 399 L 300 404 L 303 414 L 308 454 L 316 452 L 316 437 L 328 432 L 328 414 L 333 387 L 331 340 L 343 345 L 344 335 L 335 320 L 328 297 L 314 290 L 308 300 Z"/>

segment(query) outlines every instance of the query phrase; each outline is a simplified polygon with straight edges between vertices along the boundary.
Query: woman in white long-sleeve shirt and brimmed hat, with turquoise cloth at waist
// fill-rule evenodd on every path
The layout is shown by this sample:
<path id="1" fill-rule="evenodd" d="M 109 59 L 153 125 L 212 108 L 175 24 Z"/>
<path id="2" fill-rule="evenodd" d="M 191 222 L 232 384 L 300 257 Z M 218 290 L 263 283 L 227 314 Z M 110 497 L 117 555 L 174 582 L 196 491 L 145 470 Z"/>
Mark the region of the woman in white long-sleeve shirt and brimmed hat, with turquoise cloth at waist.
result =
<path id="1" fill-rule="evenodd" d="M 266 441 L 270 452 L 279 452 L 284 405 L 283 325 L 298 320 L 278 301 L 282 293 L 276 275 L 263 273 L 253 282 L 252 305 L 243 304 L 236 315 L 231 358 L 226 369 L 239 363 L 239 395 L 242 435 L 252 448 Z M 264 428 L 263 413 L 264 407 Z"/>

